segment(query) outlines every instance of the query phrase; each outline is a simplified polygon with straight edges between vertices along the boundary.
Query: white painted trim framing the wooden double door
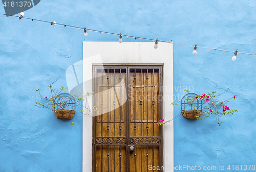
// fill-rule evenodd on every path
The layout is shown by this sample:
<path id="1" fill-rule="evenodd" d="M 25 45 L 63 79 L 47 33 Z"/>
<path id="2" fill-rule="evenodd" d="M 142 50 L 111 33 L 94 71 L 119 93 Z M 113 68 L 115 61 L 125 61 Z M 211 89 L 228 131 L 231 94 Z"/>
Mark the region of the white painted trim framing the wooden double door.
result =
<path id="1" fill-rule="evenodd" d="M 163 65 L 163 116 L 173 119 L 173 44 L 154 42 L 83 42 L 83 90 L 92 92 L 92 67 L 94 64 Z M 92 97 L 88 103 L 92 107 Z M 163 161 L 165 171 L 174 166 L 173 121 L 164 125 Z M 83 157 L 84 172 L 92 171 L 92 114 L 83 115 Z"/>

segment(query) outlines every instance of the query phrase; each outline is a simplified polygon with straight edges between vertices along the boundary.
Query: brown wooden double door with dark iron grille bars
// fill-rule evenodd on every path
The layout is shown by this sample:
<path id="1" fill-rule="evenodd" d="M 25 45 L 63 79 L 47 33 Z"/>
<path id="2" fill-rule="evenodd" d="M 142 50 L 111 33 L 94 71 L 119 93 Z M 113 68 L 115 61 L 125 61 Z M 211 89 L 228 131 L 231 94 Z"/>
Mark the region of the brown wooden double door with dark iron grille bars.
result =
<path id="1" fill-rule="evenodd" d="M 162 66 L 94 66 L 93 75 L 93 171 L 162 166 Z"/>

